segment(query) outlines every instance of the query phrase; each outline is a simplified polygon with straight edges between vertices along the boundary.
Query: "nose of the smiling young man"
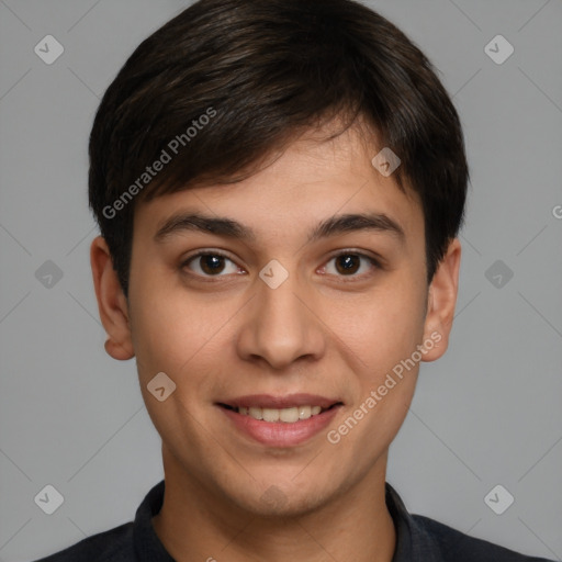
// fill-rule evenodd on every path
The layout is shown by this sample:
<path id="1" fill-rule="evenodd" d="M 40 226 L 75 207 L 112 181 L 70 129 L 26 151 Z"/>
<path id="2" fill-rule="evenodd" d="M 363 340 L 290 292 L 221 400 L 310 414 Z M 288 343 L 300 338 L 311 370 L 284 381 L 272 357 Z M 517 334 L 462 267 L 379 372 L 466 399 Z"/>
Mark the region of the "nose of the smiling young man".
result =
<path id="1" fill-rule="evenodd" d="M 237 340 L 239 356 L 274 370 L 286 369 L 301 358 L 318 359 L 325 333 L 315 308 L 314 294 L 296 276 L 290 273 L 276 289 L 259 279 L 256 295 L 245 307 Z"/>

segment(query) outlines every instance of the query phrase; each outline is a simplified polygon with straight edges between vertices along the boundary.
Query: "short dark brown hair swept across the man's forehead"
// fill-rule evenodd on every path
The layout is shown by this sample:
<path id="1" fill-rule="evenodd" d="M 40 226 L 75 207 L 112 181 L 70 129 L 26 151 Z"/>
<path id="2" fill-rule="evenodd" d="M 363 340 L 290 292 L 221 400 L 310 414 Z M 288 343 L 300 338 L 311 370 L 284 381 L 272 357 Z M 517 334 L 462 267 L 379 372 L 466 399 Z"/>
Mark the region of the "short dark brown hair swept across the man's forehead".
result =
<path id="1" fill-rule="evenodd" d="M 429 283 L 462 225 L 469 170 L 451 99 L 395 25 L 352 0 L 200 0 L 157 30 L 90 135 L 89 202 L 125 295 L 137 201 L 237 181 L 295 134 L 359 116 L 420 198 Z M 177 154 L 148 176 L 173 139 Z"/>

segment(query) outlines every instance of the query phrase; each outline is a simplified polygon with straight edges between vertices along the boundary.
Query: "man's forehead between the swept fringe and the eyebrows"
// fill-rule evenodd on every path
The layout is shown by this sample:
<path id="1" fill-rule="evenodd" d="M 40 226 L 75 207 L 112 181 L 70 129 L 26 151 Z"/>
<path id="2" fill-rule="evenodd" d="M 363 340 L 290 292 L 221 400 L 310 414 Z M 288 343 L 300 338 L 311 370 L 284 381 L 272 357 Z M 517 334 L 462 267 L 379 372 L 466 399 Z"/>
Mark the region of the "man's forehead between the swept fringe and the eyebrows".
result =
<path id="1" fill-rule="evenodd" d="M 311 225 L 362 213 L 382 215 L 406 237 L 423 235 L 418 195 L 407 186 L 404 193 L 392 175 L 384 177 L 373 166 L 378 151 L 374 143 L 353 130 L 329 142 L 304 136 L 240 182 L 189 188 L 135 205 L 135 233 L 158 238 L 175 220 L 199 213 L 235 218 L 237 225 L 247 226 L 248 239 L 296 233 L 310 238 Z"/>

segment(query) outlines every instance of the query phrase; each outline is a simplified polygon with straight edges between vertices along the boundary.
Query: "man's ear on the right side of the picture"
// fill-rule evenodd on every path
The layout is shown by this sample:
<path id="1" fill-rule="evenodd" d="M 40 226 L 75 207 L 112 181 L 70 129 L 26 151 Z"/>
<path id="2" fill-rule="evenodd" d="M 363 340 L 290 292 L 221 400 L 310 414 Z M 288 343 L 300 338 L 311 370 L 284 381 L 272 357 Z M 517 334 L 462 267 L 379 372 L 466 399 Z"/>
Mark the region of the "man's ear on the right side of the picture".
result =
<path id="1" fill-rule="evenodd" d="M 461 243 L 454 238 L 435 272 L 429 285 L 427 313 L 424 325 L 424 361 L 439 359 L 449 346 L 449 334 L 454 317 L 459 292 Z M 428 345 L 429 344 L 429 345 Z"/>

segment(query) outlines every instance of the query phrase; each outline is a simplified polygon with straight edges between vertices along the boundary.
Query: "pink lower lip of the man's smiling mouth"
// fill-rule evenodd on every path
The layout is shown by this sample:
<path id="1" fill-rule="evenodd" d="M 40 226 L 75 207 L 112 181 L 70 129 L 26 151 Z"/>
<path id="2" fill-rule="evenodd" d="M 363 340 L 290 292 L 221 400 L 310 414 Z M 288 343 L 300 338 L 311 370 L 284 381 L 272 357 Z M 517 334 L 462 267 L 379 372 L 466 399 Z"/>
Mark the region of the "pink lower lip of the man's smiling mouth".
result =
<path id="1" fill-rule="evenodd" d="M 293 447 L 311 439 L 334 419 L 340 406 L 333 406 L 308 419 L 293 424 L 284 422 L 263 422 L 251 416 L 238 414 L 234 409 L 218 406 L 237 429 L 269 447 Z"/>

